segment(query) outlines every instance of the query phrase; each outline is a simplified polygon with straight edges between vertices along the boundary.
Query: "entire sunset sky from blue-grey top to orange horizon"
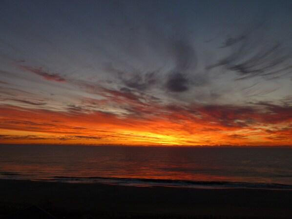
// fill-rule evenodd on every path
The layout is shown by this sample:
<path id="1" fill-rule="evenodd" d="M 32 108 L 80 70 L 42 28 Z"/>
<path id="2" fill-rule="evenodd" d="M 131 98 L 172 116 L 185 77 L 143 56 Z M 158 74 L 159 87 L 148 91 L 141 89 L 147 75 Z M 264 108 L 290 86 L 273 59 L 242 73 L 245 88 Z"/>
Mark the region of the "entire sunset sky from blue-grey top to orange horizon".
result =
<path id="1" fill-rule="evenodd" d="M 290 0 L 1 0 L 0 142 L 292 145 Z"/>

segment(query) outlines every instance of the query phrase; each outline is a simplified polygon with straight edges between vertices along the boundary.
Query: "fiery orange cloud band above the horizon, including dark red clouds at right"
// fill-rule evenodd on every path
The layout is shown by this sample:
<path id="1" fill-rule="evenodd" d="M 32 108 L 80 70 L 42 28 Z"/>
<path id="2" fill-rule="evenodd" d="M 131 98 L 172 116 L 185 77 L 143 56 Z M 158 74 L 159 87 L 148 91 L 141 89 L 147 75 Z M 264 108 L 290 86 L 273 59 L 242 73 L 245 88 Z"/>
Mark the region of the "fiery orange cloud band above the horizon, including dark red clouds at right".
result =
<path id="1" fill-rule="evenodd" d="M 292 112 L 284 106 L 158 107 L 149 106 L 147 113 L 137 105 L 134 114 L 118 115 L 6 105 L 0 108 L 0 139 L 97 145 L 292 145 Z M 142 116 L 137 116 L 139 112 Z"/>

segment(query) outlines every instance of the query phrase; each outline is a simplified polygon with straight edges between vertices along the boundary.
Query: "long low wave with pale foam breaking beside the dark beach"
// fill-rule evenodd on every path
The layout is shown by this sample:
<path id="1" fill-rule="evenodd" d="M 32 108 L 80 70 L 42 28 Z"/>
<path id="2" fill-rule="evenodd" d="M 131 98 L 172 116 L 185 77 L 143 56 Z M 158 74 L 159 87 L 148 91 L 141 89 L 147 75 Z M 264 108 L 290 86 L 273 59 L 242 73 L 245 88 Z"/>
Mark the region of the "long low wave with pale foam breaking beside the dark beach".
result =
<path id="1" fill-rule="evenodd" d="M 234 182 L 234 181 L 194 181 L 179 179 L 143 179 L 116 177 L 54 177 L 56 181 L 106 183 L 132 186 L 173 186 L 192 188 L 254 188 L 254 189 L 292 189 L 292 185 L 266 182 Z"/>

